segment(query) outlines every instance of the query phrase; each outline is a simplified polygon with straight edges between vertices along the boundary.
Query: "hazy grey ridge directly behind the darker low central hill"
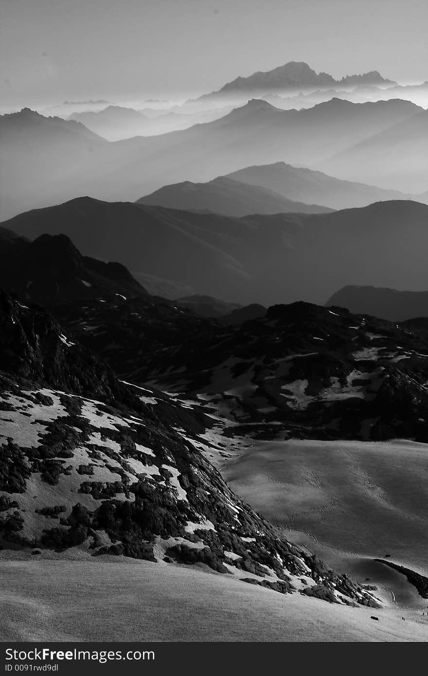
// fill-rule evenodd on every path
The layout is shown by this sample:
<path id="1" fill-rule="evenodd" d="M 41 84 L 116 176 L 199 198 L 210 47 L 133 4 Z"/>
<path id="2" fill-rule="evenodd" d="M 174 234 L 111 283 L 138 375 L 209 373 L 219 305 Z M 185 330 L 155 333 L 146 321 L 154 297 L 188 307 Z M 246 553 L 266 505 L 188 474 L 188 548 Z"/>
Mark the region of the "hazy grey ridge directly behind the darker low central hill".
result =
<path id="1" fill-rule="evenodd" d="M 408 193 L 339 180 L 322 172 L 294 167 L 285 162 L 245 167 L 229 174 L 227 178 L 273 190 L 287 199 L 331 206 L 333 209 L 364 207 L 377 201 L 410 197 Z M 418 195 L 416 199 L 428 201 L 428 194 Z"/>

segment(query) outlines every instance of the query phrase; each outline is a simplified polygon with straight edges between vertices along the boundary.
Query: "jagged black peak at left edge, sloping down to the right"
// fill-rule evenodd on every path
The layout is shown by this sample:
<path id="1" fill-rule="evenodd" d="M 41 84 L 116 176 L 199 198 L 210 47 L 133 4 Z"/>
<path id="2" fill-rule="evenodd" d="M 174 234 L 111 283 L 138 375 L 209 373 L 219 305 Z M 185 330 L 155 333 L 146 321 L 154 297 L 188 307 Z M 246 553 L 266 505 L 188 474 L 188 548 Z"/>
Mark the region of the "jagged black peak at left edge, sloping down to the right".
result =
<path id="1" fill-rule="evenodd" d="M 43 305 L 100 295 L 147 295 L 120 263 L 82 256 L 66 235 L 30 242 L 1 228 L 0 288 Z"/>

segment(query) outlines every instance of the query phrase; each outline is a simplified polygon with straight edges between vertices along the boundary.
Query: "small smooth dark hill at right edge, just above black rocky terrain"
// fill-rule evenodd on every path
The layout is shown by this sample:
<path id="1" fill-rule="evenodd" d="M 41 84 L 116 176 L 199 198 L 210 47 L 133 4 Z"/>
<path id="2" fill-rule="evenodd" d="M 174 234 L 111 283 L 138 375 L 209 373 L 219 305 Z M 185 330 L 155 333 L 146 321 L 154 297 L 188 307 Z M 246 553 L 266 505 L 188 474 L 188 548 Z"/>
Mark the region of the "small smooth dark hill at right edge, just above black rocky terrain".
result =
<path id="1" fill-rule="evenodd" d="M 428 317 L 428 291 L 397 291 L 377 287 L 348 286 L 329 298 L 326 306 L 348 308 L 356 314 L 372 314 L 391 322 Z"/>

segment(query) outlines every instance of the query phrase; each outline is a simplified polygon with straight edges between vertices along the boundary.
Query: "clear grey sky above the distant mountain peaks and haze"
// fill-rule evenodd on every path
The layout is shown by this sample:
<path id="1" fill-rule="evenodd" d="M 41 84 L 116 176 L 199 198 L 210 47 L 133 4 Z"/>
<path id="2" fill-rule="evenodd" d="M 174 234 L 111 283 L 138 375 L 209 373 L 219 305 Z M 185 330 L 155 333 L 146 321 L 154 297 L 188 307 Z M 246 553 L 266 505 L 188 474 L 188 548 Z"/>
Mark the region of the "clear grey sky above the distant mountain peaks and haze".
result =
<path id="1" fill-rule="evenodd" d="M 427 0 L 1 0 L 1 105 L 180 100 L 289 61 L 423 82 L 427 29 Z"/>

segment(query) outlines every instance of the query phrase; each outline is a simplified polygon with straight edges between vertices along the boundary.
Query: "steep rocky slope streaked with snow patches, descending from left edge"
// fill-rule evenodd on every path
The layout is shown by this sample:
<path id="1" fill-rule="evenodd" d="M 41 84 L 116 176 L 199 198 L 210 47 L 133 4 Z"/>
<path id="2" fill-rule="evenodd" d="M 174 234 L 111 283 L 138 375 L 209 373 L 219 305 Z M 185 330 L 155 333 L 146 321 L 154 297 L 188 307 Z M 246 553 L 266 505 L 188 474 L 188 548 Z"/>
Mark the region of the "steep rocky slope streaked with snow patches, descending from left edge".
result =
<path id="1" fill-rule="evenodd" d="M 0 369 L 3 549 L 206 564 L 283 594 L 377 605 L 237 498 L 177 433 L 180 411 L 169 423 L 145 389 L 3 293 Z"/>

